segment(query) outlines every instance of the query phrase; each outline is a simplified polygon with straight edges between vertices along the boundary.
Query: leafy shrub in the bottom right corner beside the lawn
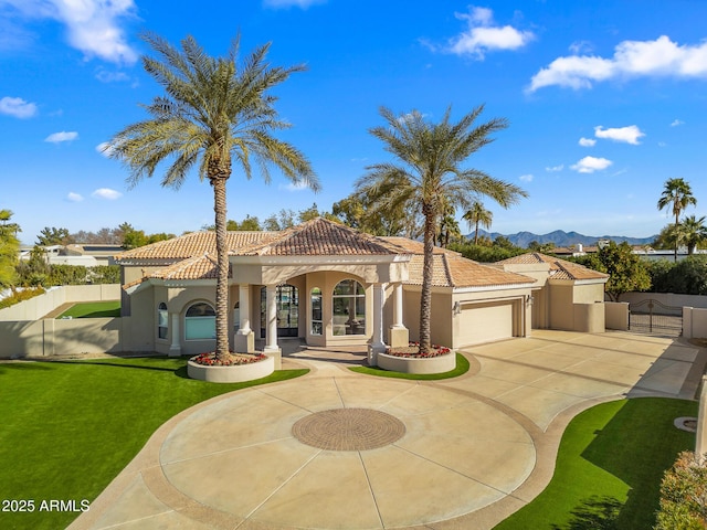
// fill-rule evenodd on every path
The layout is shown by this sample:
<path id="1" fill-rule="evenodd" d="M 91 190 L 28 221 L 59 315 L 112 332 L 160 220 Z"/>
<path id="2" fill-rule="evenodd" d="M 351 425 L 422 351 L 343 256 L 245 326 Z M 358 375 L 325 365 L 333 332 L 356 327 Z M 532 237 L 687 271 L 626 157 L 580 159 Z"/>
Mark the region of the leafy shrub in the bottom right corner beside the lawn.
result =
<path id="1" fill-rule="evenodd" d="M 703 462 L 700 462 L 703 460 Z M 655 530 L 707 528 L 707 467 L 693 452 L 680 453 L 661 481 Z"/>

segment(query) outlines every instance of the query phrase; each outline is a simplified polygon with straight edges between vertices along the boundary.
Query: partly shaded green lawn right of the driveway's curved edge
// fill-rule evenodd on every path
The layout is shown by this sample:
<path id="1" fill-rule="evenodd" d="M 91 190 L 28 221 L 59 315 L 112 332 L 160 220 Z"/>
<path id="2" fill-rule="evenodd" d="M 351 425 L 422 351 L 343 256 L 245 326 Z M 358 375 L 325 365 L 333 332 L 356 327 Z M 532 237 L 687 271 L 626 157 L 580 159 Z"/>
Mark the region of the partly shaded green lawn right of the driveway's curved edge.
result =
<path id="1" fill-rule="evenodd" d="M 655 523 L 661 479 L 695 434 L 675 428 L 698 403 L 622 400 L 579 414 L 567 427 L 548 487 L 494 530 L 643 530 Z"/>

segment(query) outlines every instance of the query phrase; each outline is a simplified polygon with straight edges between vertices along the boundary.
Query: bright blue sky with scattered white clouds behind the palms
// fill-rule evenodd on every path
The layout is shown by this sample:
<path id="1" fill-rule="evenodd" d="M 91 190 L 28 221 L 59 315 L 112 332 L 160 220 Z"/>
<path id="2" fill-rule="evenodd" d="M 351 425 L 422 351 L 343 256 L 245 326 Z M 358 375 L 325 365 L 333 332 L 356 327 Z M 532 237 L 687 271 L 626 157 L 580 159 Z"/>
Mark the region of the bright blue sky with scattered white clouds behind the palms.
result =
<path id="1" fill-rule="evenodd" d="M 323 190 L 236 169 L 230 219 L 348 195 L 389 159 L 368 132 L 381 105 L 436 120 L 485 104 L 482 119 L 510 126 L 469 167 L 529 193 L 509 210 L 486 202 L 494 231 L 650 236 L 669 222 L 656 209 L 669 178 L 692 184 L 688 214 L 707 213 L 705 21 L 699 0 L 0 0 L 0 209 L 25 243 L 44 226 L 211 224 L 212 190 L 196 174 L 179 191 L 157 178 L 129 188 L 99 146 L 161 93 L 141 68 L 140 32 L 192 34 L 218 55 L 240 31 L 243 51 L 272 41 L 273 64 L 307 65 L 275 93 L 294 125 L 282 137 Z"/>

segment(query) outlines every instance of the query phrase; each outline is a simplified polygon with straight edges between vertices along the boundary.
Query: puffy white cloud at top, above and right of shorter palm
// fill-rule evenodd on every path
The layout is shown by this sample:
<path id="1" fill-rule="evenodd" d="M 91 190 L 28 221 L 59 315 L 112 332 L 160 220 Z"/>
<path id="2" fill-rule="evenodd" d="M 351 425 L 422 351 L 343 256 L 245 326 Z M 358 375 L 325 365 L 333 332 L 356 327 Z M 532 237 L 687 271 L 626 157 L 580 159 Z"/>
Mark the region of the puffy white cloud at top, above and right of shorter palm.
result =
<path id="1" fill-rule="evenodd" d="M 449 52 L 457 55 L 473 55 L 483 60 L 488 51 L 517 50 L 535 39 L 530 31 L 521 31 L 511 25 L 493 25 L 493 11 L 487 8 L 471 7 L 468 13 L 454 13 L 466 20 L 468 29 L 452 39 Z"/>

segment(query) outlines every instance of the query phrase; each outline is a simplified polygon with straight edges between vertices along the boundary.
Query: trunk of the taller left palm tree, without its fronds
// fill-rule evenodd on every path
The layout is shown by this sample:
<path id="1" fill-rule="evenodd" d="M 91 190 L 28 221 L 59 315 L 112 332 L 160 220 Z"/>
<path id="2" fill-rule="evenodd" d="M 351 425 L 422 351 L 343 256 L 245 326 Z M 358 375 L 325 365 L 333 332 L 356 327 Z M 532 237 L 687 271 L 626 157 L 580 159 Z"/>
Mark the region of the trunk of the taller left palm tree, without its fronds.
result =
<path id="1" fill-rule="evenodd" d="M 225 182 L 228 176 L 211 179 L 217 225 L 217 358 L 229 357 L 229 247 L 226 241 Z"/>

